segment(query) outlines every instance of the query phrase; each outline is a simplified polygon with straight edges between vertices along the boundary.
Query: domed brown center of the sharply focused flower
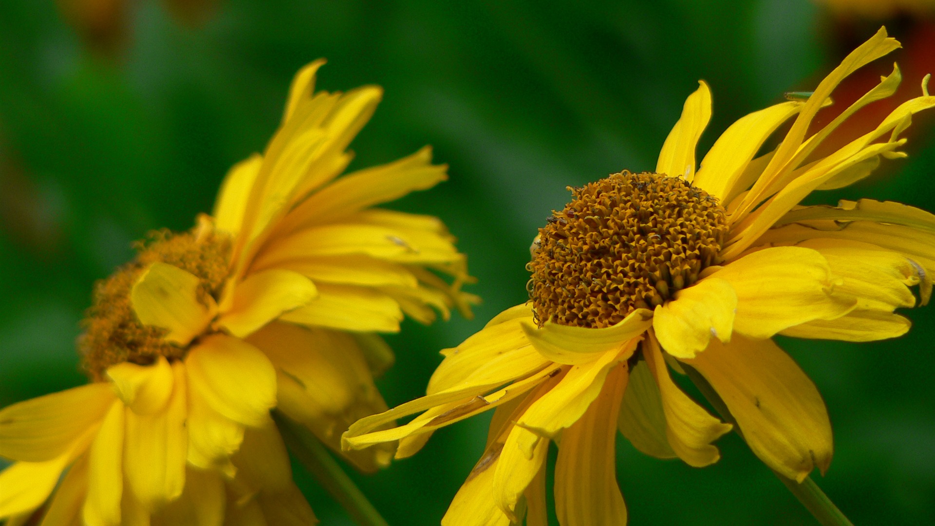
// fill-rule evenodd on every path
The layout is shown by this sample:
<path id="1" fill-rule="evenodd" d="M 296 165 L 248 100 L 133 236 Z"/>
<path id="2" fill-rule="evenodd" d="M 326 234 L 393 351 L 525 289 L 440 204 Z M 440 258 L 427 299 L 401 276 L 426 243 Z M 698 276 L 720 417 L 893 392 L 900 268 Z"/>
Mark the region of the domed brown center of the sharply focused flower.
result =
<path id="1" fill-rule="evenodd" d="M 625 170 L 568 189 L 573 199 L 539 228 L 527 266 L 540 327 L 610 327 L 718 262 L 726 212 L 681 178 Z"/>

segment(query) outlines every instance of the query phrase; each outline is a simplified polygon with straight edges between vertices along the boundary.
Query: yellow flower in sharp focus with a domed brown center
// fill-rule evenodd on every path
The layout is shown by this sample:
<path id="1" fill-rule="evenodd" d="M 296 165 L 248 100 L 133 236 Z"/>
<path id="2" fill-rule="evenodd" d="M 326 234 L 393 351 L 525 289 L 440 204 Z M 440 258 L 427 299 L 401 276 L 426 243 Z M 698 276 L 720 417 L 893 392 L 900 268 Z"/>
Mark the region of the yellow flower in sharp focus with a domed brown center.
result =
<path id="1" fill-rule="evenodd" d="M 755 454 L 801 481 L 831 460 L 821 396 L 770 339 L 870 341 L 909 329 L 894 314 L 922 302 L 935 271 L 935 215 L 893 202 L 799 206 L 813 190 L 866 177 L 903 156 L 899 133 L 924 96 L 827 157 L 811 155 L 860 107 L 892 95 L 899 69 L 809 136 L 816 112 L 860 66 L 899 47 L 885 29 L 848 55 L 807 100 L 756 111 L 729 126 L 696 171 L 711 116 L 701 82 L 685 102 L 654 173 L 627 171 L 574 188 L 539 229 L 530 301 L 504 311 L 445 356 L 427 396 L 368 416 L 344 446 L 398 441 L 415 453 L 432 431 L 496 408 L 482 459 L 442 524 L 545 524 L 544 460 L 558 445 L 555 507 L 563 526 L 623 524 L 614 436 L 692 466 L 718 460 L 730 425 L 673 382 L 689 365 L 716 389 Z M 928 80 L 928 78 L 927 78 Z M 782 142 L 757 155 L 786 121 Z M 424 411 L 408 424 L 398 417 Z"/>

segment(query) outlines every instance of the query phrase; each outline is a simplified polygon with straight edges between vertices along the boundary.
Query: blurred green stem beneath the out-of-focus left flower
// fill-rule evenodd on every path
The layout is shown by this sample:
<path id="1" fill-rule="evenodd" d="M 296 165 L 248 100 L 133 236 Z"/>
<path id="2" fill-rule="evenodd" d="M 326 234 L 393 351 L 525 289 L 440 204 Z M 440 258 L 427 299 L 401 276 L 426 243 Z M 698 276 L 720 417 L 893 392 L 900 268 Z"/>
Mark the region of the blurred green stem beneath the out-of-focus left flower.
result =
<path id="1" fill-rule="evenodd" d="M 279 411 L 273 412 L 273 418 L 282 433 L 282 439 L 295 458 L 302 462 L 309 473 L 347 510 L 357 524 L 388 526 L 380 512 L 370 504 L 364 493 L 357 488 L 351 477 L 344 473 L 338 461 L 315 435 Z"/>

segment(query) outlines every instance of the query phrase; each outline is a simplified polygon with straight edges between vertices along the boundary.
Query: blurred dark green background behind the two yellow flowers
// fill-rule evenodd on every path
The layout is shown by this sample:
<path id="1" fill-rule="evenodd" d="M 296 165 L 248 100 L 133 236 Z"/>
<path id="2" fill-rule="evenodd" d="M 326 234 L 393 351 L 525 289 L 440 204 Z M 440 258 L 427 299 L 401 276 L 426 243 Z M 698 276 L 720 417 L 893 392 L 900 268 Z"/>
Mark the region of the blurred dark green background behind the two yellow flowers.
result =
<path id="1" fill-rule="evenodd" d="M 380 387 L 395 405 L 423 393 L 440 348 L 525 300 L 529 242 L 568 184 L 654 168 L 698 79 L 714 96 L 703 152 L 734 119 L 810 89 L 880 23 L 810 0 L 6 0 L 0 405 L 83 381 L 74 342 L 94 281 L 147 231 L 186 229 L 210 210 L 226 169 L 262 151 L 292 75 L 315 58 L 329 60 L 321 88 L 386 89 L 352 168 L 426 143 L 451 166 L 449 182 L 392 206 L 441 217 L 479 278 L 475 319 L 408 321 L 388 337 L 397 363 Z M 930 21 L 886 23 L 907 48 L 935 50 Z M 913 72 L 935 70 L 935 55 L 921 56 Z M 913 95 L 920 78 L 905 80 Z M 919 121 L 910 158 L 812 201 L 935 209 L 935 134 Z M 935 311 L 907 315 L 913 331 L 895 341 L 782 342 L 834 425 L 835 460 L 816 479 L 856 524 L 935 522 Z M 486 421 L 439 431 L 416 457 L 355 479 L 391 524 L 437 524 L 481 454 Z M 631 524 L 813 523 L 737 436 L 719 446 L 723 460 L 694 469 L 621 440 Z M 308 475 L 296 478 L 324 524 L 351 523 Z"/>

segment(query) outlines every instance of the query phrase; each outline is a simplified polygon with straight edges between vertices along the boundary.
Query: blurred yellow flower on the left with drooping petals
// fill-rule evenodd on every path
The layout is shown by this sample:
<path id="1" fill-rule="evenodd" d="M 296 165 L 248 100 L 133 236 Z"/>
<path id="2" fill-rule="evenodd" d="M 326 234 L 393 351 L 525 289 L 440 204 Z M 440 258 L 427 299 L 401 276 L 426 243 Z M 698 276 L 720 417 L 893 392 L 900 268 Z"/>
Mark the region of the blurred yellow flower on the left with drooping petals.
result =
<path id="1" fill-rule="evenodd" d="M 93 383 L 0 411 L 0 519 L 43 524 L 308 524 L 273 407 L 339 450 L 384 411 L 376 332 L 465 314 L 466 258 L 434 218 L 370 208 L 444 180 L 423 149 L 338 178 L 381 89 L 295 77 L 263 155 L 227 175 L 213 216 L 156 232 L 97 285 L 79 342 Z M 453 276 L 453 285 L 442 275 Z M 364 471 L 393 446 L 347 458 Z M 70 466 L 70 469 L 68 469 Z"/>

